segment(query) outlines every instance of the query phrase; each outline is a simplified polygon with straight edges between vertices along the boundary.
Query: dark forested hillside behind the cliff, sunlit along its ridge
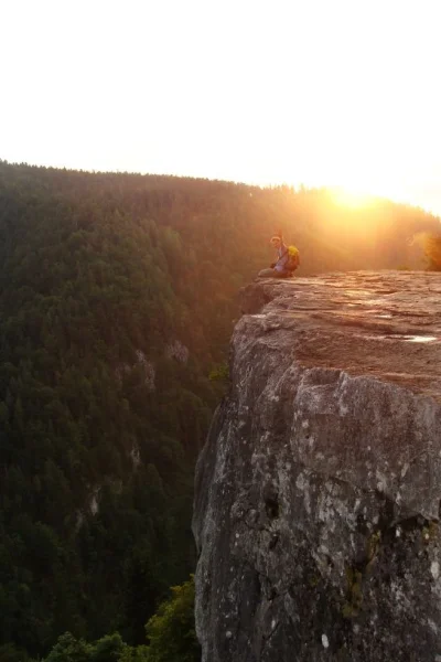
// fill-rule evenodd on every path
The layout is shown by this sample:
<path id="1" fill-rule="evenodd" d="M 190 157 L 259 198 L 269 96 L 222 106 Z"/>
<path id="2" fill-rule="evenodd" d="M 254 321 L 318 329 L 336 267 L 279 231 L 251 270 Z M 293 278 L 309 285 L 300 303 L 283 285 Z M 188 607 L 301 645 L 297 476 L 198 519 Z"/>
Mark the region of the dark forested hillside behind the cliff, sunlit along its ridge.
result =
<path id="1" fill-rule="evenodd" d="M 0 162 L 0 659 L 66 630 L 142 642 L 193 569 L 208 375 L 278 228 L 305 275 L 423 268 L 410 239 L 439 224 L 324 190 Z"/>

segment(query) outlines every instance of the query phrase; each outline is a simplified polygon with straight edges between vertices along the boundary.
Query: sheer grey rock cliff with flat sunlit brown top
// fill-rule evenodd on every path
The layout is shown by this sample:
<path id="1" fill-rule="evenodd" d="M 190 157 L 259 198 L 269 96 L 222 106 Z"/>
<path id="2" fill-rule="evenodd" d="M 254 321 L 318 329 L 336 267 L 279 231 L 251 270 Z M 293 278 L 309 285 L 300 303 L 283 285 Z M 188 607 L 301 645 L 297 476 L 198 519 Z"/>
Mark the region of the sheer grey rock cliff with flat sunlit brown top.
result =
<path id="1" fill-rule="evenodd" d="M 441 275 L 256 282 L 196 471 L 203 662 L 441 660 Z"/>

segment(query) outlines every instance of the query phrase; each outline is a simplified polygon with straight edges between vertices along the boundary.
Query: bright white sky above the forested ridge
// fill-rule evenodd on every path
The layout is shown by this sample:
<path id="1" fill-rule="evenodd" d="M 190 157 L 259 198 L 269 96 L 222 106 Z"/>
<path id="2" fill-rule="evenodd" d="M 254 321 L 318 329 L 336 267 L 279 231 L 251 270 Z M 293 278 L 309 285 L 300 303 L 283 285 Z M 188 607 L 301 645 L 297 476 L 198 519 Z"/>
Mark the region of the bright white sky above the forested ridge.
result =
<path id="1" fill-rule="evenodd" d="M 0 0 L 0 158 L 441 214 L 440 0 Z"/>

